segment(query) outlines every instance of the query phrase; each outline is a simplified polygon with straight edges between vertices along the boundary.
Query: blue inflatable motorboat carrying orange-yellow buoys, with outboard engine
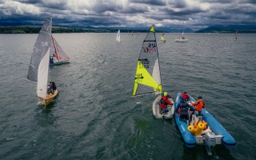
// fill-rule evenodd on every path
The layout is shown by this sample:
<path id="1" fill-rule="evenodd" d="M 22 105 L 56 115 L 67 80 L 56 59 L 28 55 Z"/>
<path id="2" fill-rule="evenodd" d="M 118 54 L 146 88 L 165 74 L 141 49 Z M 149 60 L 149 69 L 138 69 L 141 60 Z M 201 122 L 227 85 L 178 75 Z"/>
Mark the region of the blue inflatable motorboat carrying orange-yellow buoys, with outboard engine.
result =
<path id="1" fill-rule="evenodd" d="M 178 114 L 180 96 L 181 93 L 178 93 L 174 105 L 175 122 L 187 147 L 205 145 L 209 155 L 211 155 L 211 150 L 215 145 L 223 144 L 226 148 L 235 147 L 236 141 L 234 138 L 206 109 L 202 108 L 202 116 L 198 116 L 197 111 L 195 111 L 195 114 L 189 111 L 190 119 L 181 119 L 180 114 Z M 195 101 L 194 98 L 190 97 L 187 102 L 190 104 Z"/>

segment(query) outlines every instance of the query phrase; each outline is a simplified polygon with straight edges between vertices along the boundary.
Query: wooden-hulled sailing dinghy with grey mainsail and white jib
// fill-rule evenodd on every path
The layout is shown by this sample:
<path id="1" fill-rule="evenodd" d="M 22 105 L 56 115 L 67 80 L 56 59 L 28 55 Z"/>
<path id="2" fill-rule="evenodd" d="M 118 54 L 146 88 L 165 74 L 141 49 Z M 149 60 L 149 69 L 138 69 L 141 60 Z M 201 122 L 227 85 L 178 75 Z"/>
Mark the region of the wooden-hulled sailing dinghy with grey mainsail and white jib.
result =
<path id="1" fill-rule="evenodd" d="M 51 18 L 46 18 L 42 29 L 38 35 L 38 39 L 34 44 L 33 53 L 30 59 L 29 71 L 27 79 L 37 83 L 37 95 L 44 106 L 48 106 L 50 102 L 57 96 L 58 90 L 47 94 L 48 72 L 50 59 L 51 44 Z"/>

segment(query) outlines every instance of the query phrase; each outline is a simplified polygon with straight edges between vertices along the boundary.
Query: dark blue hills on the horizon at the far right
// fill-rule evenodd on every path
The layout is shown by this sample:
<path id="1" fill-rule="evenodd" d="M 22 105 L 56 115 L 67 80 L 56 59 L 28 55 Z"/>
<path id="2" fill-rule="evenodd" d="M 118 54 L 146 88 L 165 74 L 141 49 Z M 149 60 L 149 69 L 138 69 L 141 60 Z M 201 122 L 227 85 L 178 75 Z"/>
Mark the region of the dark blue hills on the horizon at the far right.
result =
<path id="1" fill-rule="evenodd" d="M 235 30 L 238 30 L 239 33 L 256 33 L 256 25 L 209 26 L 205 29 L 196 31 L 196 33 L 230 34 L 234 33 Z"/>

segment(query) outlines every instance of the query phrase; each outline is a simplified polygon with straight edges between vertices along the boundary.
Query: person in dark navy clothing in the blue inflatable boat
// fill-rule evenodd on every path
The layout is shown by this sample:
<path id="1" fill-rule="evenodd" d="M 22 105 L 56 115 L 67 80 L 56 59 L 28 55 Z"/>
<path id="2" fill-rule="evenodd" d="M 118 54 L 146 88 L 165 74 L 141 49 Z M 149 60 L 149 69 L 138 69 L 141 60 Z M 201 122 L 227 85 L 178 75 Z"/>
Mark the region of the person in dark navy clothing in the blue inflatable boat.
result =
<path id="1" fill-rule="evenodd" d="M 189 110 L 194 111 L 194 108 L 184 100 L 184 97 L 181 96 L 180 99 L 181 101 L 178 103 L 177 113 L 182 120 L 189 120 Z"/>

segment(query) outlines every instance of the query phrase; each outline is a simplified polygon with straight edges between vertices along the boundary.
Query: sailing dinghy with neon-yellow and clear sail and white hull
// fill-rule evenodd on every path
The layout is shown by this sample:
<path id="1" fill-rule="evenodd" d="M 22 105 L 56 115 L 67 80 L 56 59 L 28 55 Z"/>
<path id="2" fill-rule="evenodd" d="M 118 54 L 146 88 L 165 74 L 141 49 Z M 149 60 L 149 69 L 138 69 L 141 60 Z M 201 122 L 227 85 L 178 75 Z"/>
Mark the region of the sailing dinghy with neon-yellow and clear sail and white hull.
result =
<path id="1" fill-rule="evenodd" d="M 153 88 L 153 90 L 152 90 Z M 133 96 L 145 94 L 159 94 L 162 92 L 160 64 L 158 58 L 158 46 L 155 37 L 154 25 L 143 41 L 142 50 L 139 54 L 137 70 L 134 78 Z M 153 102 L 152 111 L 155 118 L 172 118 L 174 114 L 174 105 L 167 106 L 167 113 L 160 113 L 159 95 Z M 170 102 L 174 103 L 170 98 Z"/>

